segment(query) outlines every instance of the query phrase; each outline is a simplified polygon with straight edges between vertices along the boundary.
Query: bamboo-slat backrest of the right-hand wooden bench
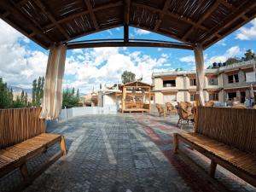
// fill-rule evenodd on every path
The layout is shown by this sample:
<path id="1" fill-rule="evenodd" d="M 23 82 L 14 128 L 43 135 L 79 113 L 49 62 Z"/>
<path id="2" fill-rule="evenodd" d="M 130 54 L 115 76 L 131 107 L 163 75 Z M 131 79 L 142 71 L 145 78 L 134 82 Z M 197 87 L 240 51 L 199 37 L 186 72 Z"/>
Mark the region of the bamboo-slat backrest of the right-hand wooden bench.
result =
<path id="1" fill-rule="evenodd" d="M 196 132 L 256 154 L 255 109 L 200 107 Z"/>

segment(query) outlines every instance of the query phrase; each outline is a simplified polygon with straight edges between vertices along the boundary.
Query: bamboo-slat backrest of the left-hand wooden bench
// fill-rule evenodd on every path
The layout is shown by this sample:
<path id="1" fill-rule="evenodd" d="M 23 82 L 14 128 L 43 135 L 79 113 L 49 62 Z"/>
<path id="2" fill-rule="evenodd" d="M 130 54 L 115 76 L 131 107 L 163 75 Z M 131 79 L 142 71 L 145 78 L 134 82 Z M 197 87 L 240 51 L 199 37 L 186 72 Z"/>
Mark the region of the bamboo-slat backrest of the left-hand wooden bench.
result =
<path id="1" fill-rule="evenodd" d="M 41 108 L 0 109 L 0 149 L 45 132 Z"/>

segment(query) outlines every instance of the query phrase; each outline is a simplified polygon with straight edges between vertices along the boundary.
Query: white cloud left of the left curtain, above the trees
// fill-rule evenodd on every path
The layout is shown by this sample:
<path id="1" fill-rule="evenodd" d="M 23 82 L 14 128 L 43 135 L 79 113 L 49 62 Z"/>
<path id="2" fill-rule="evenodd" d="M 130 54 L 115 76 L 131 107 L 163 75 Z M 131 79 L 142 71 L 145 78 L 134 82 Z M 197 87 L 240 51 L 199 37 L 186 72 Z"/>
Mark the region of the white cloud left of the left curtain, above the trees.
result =
<path id="1" fill-rule="evenodd" d="M 0 77 L 11 85 L 31 88 L 32 80 L 44 76 L 48 55 L 27 49 L 30 41 L 3 20 L 0 20 Z M 20 40 L 25 45 L 20 45 Z"/>

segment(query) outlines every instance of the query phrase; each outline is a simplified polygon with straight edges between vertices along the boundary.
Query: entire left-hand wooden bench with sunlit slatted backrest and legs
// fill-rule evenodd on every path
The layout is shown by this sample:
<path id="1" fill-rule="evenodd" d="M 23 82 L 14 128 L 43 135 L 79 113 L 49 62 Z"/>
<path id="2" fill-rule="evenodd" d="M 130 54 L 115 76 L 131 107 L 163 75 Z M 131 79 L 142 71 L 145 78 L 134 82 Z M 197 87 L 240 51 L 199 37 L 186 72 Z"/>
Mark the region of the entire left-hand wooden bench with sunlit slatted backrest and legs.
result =
<path id="1" fill-rule="evenodd" d="M 55 160 L 67 154 L 63 136 L 45 133 L 44 119 L 39 119 L 40 111 L 41 108 L 0 110 L 0 177 L 19 168 L 24 178 L 21 184 L 23 187 L 31 183 Z M 29 174 L 27 161 L 45 153 L 55 143 L 61 144 L 61 150 L 36 172 Z"/>

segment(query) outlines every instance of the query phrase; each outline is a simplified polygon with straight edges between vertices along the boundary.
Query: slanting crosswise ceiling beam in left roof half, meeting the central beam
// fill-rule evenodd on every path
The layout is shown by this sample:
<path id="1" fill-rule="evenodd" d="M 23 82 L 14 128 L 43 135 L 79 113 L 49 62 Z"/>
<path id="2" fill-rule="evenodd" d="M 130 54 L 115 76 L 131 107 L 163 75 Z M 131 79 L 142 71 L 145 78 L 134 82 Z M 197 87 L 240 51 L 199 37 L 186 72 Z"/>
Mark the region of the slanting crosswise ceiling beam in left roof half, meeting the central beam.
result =
<path id="1" fill-rule="evenodd" d="M 87 1 L 87 0 L 86 0 Z M 114 8 L 114 7 L 118 7 L 120 5 L 122 5 L 123 2 L 122 1 L 119 1 L 119 2 L 116 2 L 116 3 L 108 3 L 108 4 L 105 4 L 105 5 L 102 5 L 100 7 L 97 7 L 97 8 L 94 8 L 92 9 L 93 12 L 96 12 L 96 11 L 99 11 L 99 10 L 102 10 L 102 9 L 109 9 L 109 8 Z M 73 20 L 74 18 L 76 17 L 79 17 L 79 16 L 82 16 L 82 15 L 86 15 L 86 14 L 89 14 L 90 11 L 89 10 L 85 10 L 85 11 L 82 11 L 78 14 L 73 14 L 73 15 L 70 15 L 70 16 L 67 16 L 61 20 L 56 20 L 56 23 L 57 24 L 61 24 L 61 23 L 64 23 L 68 20 Z M 51 28 L 51 27 L 54 27 L 55 25 L 54 24 L 49 24 L 49 25 L 46 25 L 46 26 L 43 26 L 45 30 Z"/>

